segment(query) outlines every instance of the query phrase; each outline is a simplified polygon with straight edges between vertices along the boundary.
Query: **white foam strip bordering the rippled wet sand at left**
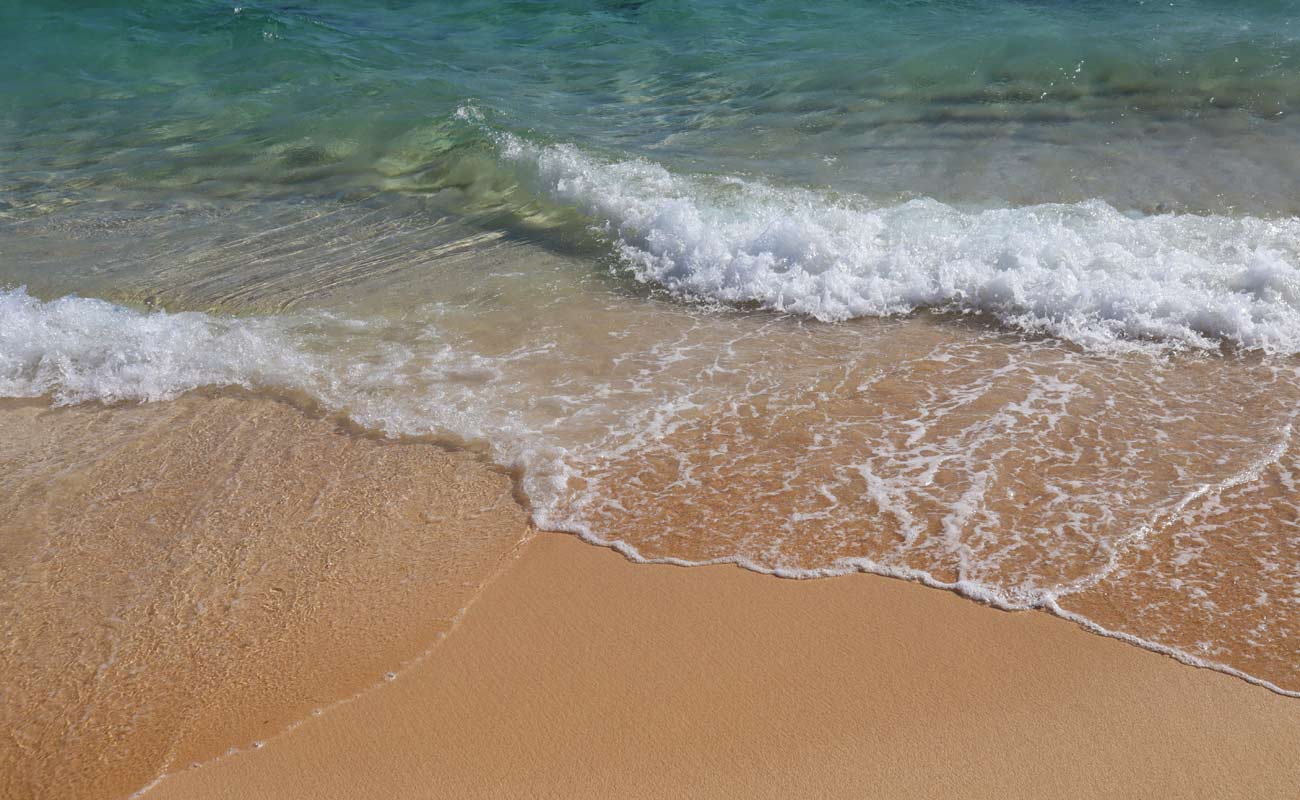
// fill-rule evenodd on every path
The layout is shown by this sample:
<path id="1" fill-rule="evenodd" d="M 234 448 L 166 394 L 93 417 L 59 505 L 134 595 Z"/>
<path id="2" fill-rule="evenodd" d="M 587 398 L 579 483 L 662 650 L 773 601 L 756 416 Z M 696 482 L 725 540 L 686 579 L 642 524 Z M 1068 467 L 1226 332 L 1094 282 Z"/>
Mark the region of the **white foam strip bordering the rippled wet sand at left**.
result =
<path id="1" fill-rule="evenodd" d="M 542 346 L 486 358 L 463 353 L 430 328 L 419 347 L 384 320 L 298 316 L 222 317 L 135 311 L 94 298 L 44 302 L 0 290 L 0 397 L 49 397 L 56 405 L 153 402 L 202 386 L 302 393 L 330 411 L 391 436 L 433 434 L 482 442 L 491 457 L 526 470 L 525 490 L 554 497 L 564 485 L 560 450 L 512 405 L 503 367 Z M 490 386 L 489 384 L 497 384 Z"/>

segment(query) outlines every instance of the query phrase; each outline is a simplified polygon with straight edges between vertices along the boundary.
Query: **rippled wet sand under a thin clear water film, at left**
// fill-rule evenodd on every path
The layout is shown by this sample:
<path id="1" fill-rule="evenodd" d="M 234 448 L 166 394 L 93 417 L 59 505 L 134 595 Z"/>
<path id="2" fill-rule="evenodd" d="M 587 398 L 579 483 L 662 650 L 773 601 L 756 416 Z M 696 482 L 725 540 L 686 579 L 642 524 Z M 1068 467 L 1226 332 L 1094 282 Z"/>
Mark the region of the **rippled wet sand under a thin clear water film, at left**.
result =
<path id="1" fill-rule="evenodd" d="M 122 797 L 419 656 L 526 533 L 508 476 L 281 402 L 0 407 L 0 797 Z"/>

